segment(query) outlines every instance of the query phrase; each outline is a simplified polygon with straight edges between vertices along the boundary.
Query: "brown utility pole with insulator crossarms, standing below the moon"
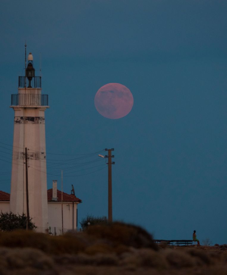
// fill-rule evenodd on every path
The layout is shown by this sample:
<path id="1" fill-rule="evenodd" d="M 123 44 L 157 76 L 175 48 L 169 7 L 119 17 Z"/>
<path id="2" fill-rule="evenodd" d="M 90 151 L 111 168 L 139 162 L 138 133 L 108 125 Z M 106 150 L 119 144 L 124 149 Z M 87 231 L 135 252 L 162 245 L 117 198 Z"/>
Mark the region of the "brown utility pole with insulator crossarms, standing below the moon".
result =
<path id="1" fill-rule="evenodd" d="M 112 164 L 115 164 L 115 162 L 112 162 L 112 157 L 114 155 L 111 155 L 111 151 L 114 151 L 114 148 L 112 149 L 105 149 L 105 151 L 108 151 L 108 221 L 112 222 Z"/>

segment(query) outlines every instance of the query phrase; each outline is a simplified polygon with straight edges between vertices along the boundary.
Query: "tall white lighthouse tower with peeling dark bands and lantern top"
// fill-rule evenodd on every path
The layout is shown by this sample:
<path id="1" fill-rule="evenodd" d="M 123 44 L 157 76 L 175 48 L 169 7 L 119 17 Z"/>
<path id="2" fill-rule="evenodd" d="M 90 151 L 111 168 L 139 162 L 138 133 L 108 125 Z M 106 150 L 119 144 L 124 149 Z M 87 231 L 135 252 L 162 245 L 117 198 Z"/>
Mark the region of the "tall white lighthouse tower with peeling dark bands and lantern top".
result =
<path id="1" fill-rule="evenodd" d="M 48 227 L 46 140 L 44 112 L 48 95 L 41 94 L 41 76 L 35 76 L 29 53 L 25 76 L 19 76 L 18 93 L 11 95 L 14 135 L 10 211 L 25 213 L 44 232 Z"/>

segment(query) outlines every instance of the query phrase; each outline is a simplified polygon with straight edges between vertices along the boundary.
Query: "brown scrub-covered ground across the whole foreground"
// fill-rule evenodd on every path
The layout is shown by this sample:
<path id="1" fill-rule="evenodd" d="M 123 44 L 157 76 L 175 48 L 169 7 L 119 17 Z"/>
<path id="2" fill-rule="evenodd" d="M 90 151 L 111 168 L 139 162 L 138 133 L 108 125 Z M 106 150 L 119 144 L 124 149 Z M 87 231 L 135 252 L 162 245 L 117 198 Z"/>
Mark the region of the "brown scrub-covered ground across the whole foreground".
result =
<path id="1" fill-rule="evenodd" d="M 227 245 L 157 247 L 143 229 L 119 224 L 64 237 L 0 234 L 0 275 L 22 274 L 227 275 Z"/>

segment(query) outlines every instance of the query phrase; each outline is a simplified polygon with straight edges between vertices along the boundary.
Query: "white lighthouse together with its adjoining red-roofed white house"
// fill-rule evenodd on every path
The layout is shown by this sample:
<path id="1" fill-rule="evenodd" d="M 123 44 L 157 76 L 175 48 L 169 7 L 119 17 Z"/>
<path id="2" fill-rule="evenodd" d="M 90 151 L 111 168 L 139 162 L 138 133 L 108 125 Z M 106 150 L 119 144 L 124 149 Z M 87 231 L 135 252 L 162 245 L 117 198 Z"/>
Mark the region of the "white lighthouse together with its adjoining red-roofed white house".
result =
<path id="1" fill-rule="evenodd" d="M 15 114 L 11 191 L 0 191 L 0 210 L 25 213 L 37 231 L 50 229 L 61 234 L 64 226 L 65 230 L 76 229 L 81 200 L 57 190 L 57 181 L 47 190 L 44 112 L 49 108 L 48 95 L 42 94 L 41 76 L 35 76 L 32 53 L 26 60 L 26 45 L 25 68 L 25 76 L 19 76 L 18 93 L 11 95 Z"/>

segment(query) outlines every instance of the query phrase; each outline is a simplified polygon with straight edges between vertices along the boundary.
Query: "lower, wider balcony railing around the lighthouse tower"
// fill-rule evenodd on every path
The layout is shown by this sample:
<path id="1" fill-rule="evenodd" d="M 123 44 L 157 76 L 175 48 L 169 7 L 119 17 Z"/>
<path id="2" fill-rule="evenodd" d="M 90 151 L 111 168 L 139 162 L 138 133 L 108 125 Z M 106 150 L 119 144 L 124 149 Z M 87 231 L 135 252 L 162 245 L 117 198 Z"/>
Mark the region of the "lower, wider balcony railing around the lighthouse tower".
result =
<path id="1" fill-rule="evenodd" d="M 48 106 L 48 95 L 16 93 L 11 95 L 11 105 Z"/>

